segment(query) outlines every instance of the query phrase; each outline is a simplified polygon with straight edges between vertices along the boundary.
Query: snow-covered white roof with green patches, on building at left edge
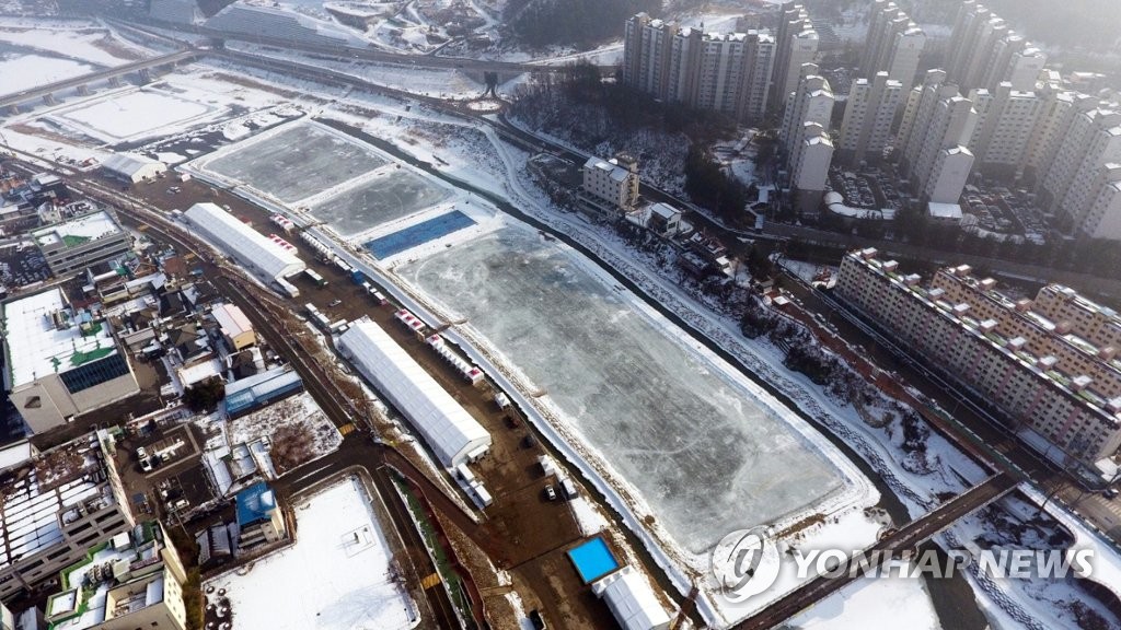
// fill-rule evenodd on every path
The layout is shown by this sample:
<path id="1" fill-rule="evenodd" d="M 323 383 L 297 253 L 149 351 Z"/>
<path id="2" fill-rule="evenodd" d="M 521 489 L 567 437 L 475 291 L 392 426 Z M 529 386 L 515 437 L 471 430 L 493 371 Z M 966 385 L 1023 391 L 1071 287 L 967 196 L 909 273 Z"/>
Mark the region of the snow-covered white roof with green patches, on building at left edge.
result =
<path id="1" fill-rule="evenodd" d="M 4 350 L 11 386 L 114 354 L 117 343 L 109 325 L 85 319 L 89 314 L 75 314 L 57 287 L 4 304 Z"/>

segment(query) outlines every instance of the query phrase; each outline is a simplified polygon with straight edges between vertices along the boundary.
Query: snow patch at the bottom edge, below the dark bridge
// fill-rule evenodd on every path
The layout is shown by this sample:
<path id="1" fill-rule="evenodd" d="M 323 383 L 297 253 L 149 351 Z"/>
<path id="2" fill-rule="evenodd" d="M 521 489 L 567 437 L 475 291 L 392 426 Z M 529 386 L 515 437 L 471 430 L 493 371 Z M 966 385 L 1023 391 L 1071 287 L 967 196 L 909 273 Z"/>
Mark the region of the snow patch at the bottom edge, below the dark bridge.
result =
<path id="1" fill-rule="evenodd" d="M 942 630 L 921 580 L 864 578 L 786 622 L 791 630 Z"/>

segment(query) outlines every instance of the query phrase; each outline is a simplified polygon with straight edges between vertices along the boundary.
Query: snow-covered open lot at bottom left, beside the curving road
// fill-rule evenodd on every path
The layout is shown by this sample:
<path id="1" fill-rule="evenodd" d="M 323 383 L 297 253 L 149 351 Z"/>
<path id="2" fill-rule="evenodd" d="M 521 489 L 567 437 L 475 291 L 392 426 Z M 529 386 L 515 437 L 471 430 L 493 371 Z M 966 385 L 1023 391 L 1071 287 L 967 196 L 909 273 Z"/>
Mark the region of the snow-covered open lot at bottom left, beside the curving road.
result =
<path id="1" fill-rule="evenodd" d="M 411 628 L 415 606 L 393 582 L 390 552 L 356 478 L 296 506 L 296 544 L 207 582 L 225 589 L 235 630 Z"/>

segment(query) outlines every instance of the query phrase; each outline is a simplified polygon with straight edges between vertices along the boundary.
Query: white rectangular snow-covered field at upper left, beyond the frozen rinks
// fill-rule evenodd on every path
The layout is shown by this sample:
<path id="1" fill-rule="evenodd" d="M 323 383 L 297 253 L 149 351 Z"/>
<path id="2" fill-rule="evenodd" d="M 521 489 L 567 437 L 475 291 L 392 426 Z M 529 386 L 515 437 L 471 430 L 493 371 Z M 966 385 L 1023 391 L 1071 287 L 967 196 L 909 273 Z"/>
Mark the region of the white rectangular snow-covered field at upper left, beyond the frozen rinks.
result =
<path id="1" fill-rule="evenodd" d="M 50 119 L 64 128 L 115 143 L 166 135 L 225 113 L 225 108 L 189 101 L 159 89 L 141 87 L 57 111 Z"/>

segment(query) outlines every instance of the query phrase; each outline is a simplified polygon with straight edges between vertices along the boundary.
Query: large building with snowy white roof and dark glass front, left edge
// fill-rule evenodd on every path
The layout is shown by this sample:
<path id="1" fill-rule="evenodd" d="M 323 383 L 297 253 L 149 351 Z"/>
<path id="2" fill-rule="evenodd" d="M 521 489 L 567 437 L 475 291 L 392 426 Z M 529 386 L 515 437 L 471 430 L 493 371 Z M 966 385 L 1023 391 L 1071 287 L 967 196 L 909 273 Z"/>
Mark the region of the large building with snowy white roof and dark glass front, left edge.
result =
<path id="1" fill-rule="evenodd" d="M 35 433 L 140 391 L 105 319 L 75 311 L 58 287 L 3 305 L 4 386 Z"/>

